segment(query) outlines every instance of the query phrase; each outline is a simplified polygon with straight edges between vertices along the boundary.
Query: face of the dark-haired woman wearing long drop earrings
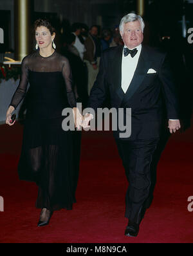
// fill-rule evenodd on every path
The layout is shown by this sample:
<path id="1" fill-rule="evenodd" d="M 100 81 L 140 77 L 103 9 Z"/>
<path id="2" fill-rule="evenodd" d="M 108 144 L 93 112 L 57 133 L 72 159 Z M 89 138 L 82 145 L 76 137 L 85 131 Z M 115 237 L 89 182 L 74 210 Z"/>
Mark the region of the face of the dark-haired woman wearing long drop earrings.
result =
<path id="1" fill-rule="evenodd" d="M 35 30 L 35 40 L 37 41 L 39 48 L 49 47 L 54 37 L 55 33 L 51 36 L 50 30 L 46 27 L 37 27 Z"/>

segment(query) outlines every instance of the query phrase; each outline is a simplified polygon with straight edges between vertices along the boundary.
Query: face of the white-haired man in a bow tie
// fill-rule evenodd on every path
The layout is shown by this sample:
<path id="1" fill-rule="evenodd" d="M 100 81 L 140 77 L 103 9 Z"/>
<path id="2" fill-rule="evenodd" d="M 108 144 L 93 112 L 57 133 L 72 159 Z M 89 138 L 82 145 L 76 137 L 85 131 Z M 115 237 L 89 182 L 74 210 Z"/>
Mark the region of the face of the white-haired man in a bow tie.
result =
<path id="1" fill-rule="evenodd" d="M 138 47 L 143 41 L 143 32 L 140 21 L 131 21 L 124 24 L 124 31 L 120 31 L 122 39 L 128 48 Z"/>

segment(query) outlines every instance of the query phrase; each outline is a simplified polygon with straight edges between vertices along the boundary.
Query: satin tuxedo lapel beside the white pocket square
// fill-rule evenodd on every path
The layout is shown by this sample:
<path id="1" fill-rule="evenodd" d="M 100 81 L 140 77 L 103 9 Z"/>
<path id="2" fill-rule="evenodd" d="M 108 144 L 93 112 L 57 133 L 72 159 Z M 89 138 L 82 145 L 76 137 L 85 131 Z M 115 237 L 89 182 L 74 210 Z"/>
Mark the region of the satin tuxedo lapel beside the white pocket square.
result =
<path id="1" fill-rule="evenodd" d="M 149 60 L 147 50 L 145 49 L 145 47 L 142 46 L 140 58 L 138 59 L 138 65 L 134 72 L 134 76 L 131 80 L 129 88 L 125 93 L 124 102 L 127 102 L 133 96 L 134 92 L 136 92 L 137 89 L 140 87 L 143 79 L 147 74 L 147 71 L 149 70 L 149 67 L 151 67 L 151 62 L 152 61 Z"/>

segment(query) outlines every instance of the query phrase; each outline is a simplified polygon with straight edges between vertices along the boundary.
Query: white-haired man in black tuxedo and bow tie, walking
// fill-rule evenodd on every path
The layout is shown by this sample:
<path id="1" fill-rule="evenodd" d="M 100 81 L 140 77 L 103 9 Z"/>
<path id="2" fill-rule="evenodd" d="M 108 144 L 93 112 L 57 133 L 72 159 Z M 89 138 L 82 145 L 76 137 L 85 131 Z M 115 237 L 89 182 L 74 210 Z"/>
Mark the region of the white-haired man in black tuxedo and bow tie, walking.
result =
<path id="1" fill-rule="evenodd" d="M 131 136 L 120 138 L 114 131 L 118 152 L 129 182 L 125 198 L 125 217 L 129 219 L 125 235 L 136 237 L 148 205 L 151 187 L 152 155 L 158 145 L 167 109 L 168 128 L 175 133 L 180 128 L 178 101 L 170 65 L 165 53 L 142 45 L 143 19 L 127 14 L 120 22 L 124 46 L 103 52 L 100 70 L 89 96 L 89 107 L 95 111 L 110 95 L 111 106 L 131 108 Z M 83 127 L 93 118 L 84 116 Z M 167 127 L 166 127 L 167 129 Z"/>

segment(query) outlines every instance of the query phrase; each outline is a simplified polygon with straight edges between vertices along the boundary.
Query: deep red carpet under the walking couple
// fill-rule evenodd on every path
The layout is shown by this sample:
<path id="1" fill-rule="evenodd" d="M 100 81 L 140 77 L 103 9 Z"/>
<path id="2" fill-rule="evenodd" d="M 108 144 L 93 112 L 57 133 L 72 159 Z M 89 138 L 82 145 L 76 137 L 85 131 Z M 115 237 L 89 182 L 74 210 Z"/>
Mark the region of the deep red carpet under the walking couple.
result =
<path id="1" fill-rule="evenodd" d="M 158 165 L 153 204 L 138 237 L 127 238 L 127 181 L 111 133 L 83 134 L 77 204 L 73 211 L 56 211 L 49 226 L 37 228 L 37 187 L 17 177 L 22 127 L 1 125 L 0 196 L 5 211 L 0 212 L 0 242 L 193 242 L 193 212 L 187 210 L 187 198 L 193 196 L 192 134 L 188 129 L 170 138 Z"/>

